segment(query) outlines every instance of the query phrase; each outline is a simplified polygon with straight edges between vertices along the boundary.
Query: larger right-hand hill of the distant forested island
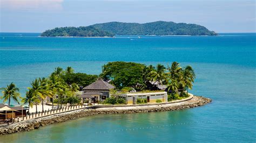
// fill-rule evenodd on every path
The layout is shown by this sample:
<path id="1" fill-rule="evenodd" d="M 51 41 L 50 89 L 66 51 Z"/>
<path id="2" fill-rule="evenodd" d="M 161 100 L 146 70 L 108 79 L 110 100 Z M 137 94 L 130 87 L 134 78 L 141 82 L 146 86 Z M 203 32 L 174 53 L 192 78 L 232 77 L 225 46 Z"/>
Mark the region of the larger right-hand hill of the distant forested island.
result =
<path id="1" fill-rule="evenodd" d="M 110 22 L 92 26 L 116 35 L 217 35 L 201 25 L 163 21 L 144 24 Z"/>

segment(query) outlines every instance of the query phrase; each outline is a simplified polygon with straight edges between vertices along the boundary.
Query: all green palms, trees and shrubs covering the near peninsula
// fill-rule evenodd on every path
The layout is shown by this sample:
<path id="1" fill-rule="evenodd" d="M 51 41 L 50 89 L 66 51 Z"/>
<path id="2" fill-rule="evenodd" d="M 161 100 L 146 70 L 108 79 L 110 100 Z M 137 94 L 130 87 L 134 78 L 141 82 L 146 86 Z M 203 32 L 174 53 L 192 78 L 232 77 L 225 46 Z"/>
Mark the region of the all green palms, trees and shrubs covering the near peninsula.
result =
<path id="1" fill-rule="evenodd" d="M 178 62 L 172 62 L 171 65 L 158 64 L 144 65 L 134 62 L 109 62 L 102 66 L 102 74 L 87 75 L 84 73 L 75 73 L 71 67 L 63 70 L 60 67 L 50 74 L 49 77 L 36 78 L 31 82 L 31 87 L 28 87 L 25 97 L 22 98 L 22 103 L 28 104 L 29 108 L 33 105 L 42 104 L 42 112 L 44 112 L 44 104 L 51 102 L 57 103 L 58 108 L 62 108 L 62 104 L 78 104 L 80 99 L 77 97 L 83 87 L 95 82 L 97 78 L 111 81 L 116 89 L 110 90 L 112 97 L 106 98 L 104 104 L 125 104 L 123 98 L 118 97 L 122 92 L 130 92 L 132 90 L 140 92 L 149 92 L 149 83 L 157 83 L 166 85 L 165 91 L 168 93 L 168 101 L 173 99 L 181 99 L 188 96 L 188 90 L 192 89 L 196 74 L 191 66 L 182 68 Z M 19 103 L 19 89 L 14 83 L 1 88 L 4 102 L 8 101 L 10 105 L 11 99 Z M 160 89 L 156 89 L 160 91 Z M 152 92 L 152 91 L 151 91 Z M 157 101 L 160 102 L 160 101 Z M 137 103 L 147 103 L 146 99 L 137 99 Z"/>

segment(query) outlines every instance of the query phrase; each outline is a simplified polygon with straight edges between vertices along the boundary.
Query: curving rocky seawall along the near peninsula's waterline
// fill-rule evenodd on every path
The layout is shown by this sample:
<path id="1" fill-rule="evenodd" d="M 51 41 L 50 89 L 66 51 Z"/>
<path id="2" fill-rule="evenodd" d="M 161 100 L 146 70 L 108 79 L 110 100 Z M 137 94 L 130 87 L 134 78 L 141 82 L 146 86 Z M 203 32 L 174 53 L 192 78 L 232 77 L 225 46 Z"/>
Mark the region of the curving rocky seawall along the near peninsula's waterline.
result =
<path id="1" fill-rule="evenodd" d="M 114 113 L 141 113 L 141 112 L 163 112 L 174 111 L 187 108 L 194 108 L 210 103 L 212 100 L 209 98 L 194 96 L 191 101 L 184 103 L 177 103 L 177 105 L 168 104 L 147 106 L 144 108 L 136 107 L 136 109 L 80 109 L 71 112 L 59 113 L 58 115 L 52 115 L 48 117 L 42 117 L 38 119 L 26 120 L 20 123 L 16 123 L 7 127 L 0 128 L 0 135 L 12 134 L 17 132 L 31 131 L 40 128 L 41 126 L 56 124 L 67 120 L 74 120 L 86 116 L 100 115 L 100 114 L 114 114 Z"/>

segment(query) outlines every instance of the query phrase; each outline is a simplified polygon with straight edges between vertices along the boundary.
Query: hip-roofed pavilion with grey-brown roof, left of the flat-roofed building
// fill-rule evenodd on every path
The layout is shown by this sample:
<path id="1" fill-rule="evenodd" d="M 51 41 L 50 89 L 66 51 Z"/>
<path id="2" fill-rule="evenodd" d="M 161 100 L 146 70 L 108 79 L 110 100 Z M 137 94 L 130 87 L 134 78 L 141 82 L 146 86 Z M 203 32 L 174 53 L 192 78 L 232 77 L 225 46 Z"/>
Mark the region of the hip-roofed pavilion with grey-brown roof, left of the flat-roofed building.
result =
<path id="1" fill-rule="evenodd" d="M 80 98 L 82 98 L 83 101 L 86 98 L 92 99 L 92 102 L 104 101 L 106 98 L 109 98 L 109 92 L 114 88 L 115 87 L 113 85 L 99 79 L 87 87 L 84 87 Z"/>

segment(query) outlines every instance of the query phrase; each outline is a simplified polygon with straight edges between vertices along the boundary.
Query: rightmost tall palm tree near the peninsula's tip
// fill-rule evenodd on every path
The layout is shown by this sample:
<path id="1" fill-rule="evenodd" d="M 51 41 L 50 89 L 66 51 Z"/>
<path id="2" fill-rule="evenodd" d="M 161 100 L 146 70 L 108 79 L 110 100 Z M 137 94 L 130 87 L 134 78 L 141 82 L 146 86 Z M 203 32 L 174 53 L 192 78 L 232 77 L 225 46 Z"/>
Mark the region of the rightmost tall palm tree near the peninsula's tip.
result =
<path id="1" fill-rule="evenodd" d="M 183 82 L 187 90 L 187 94 L 188 89 L 192 89 L 193 87 L 194 78 L 196 78 L 196 74 L 194 73 L 193 68 L 191 66 L 186 66 L 183 70 Z"/>

